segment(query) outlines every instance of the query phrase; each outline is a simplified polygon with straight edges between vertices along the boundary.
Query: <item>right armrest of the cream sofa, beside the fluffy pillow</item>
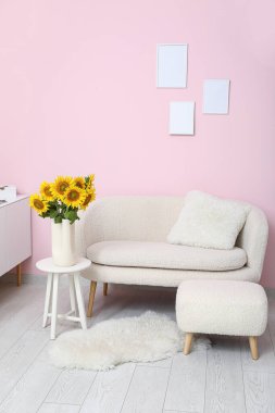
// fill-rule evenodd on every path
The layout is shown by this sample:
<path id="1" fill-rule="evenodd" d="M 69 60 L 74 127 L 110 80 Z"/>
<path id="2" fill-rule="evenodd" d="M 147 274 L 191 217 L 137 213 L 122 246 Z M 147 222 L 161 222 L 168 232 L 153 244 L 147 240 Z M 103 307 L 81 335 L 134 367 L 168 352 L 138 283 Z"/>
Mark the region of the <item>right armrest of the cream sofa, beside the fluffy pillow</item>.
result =
<path id="1" fill-rule="evenodd" d="M 247 266 L 257 272 L 257 281 L 261 279 L 267 238 L 268 224 L 265 214 L 260 209 L 252 208 L 236 245 L 247 252 Z"/>

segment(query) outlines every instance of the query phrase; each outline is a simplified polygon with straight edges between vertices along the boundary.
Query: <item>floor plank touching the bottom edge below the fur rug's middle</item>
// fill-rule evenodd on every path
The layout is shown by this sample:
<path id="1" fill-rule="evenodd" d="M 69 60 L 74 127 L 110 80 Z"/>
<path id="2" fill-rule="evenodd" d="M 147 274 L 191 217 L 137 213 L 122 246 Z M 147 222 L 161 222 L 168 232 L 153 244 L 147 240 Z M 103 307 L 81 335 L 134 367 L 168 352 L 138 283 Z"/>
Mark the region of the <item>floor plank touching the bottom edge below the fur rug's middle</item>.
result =
<path id="1" fill-rule="evenodd" d="M 98 373 L 80 413 L 120 413 L 134 371 L 135 364 L 127 363 L 115 370 Z"/>

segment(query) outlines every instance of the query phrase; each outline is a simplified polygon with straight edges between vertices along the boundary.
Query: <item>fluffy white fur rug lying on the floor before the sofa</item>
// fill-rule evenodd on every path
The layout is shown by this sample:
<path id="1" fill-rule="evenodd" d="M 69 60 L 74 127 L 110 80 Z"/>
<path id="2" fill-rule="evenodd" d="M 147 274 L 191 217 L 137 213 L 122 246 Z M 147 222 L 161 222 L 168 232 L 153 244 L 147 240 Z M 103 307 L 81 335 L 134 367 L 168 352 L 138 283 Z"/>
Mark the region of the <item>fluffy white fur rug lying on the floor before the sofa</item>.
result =
<path id="1" fill-rule="evenodd" d="M 88 330 L 61 335 L 50 349 L 59 367 L 104 371 L 126 362 L 153 362 L 182 351 L 184 335 L 166 315 L 147 311 L 140 316 L 113 318 Z M 192 350 L 208 348 L 207 338 L 197 338 Z"/>

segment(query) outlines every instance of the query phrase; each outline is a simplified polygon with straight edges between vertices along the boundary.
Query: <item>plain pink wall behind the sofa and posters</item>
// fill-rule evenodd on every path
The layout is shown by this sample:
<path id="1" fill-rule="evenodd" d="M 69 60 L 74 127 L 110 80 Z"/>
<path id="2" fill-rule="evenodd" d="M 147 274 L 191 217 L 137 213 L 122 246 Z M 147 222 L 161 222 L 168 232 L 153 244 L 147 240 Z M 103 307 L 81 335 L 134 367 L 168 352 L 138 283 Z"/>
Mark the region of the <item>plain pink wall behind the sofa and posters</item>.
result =
<path id="1" fill-rule="evenodd" d="M 0 183 L 33 192 L 97 175 L 98 195 L 202 189 L 251 201 L 271 236 L 275 287 L 274 0 L 2 0 Z M 158 42 L 188 42 L 188 88 L 155 88 Z M 232 80 L 229 115 L 203 115 L 202 82 Z M 196 101 L 196 136 L 171 137 L 171 100 Z M 50 253 L 34 216 L 34 256 Z"/>

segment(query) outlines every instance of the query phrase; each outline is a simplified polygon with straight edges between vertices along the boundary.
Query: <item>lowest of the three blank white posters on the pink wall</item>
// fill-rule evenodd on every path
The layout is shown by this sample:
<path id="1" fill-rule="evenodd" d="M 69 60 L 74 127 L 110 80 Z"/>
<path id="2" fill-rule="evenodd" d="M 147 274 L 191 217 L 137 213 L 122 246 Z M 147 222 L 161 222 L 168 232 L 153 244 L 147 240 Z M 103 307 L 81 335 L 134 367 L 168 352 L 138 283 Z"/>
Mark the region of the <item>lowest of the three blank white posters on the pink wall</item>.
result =
<path id="1" fill-rule="evenodd" d="M 170 135 L 193 135 L 195 102 L 170 103 Z"/>

